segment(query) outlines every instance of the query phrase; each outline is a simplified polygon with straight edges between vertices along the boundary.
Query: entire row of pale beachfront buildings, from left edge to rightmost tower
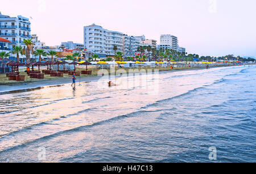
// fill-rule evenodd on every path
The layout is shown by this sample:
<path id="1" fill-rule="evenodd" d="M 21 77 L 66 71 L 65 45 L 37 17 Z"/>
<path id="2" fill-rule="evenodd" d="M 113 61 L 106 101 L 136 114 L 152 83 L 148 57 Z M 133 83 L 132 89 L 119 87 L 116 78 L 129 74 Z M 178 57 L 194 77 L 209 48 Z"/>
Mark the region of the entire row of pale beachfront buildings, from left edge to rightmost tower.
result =
<path id="1" fill-rule="evenodd" d="M 176 36 L 161 35 L 158 45 L 156 40 L 146 39 L 144 35 L 129 36 L 122 32 L 102 28 L 96 24 L 84 27 L 84 44 L 67 41 L 62 42 L 60 46 L 46 46 L 37 35 L 31 34 L 30 24 L 28 18 L 20 15 L 10 17 L 2 15 L 0 12 L 0 37 L 10 41 L 8 43 L 0 41 L 0 50 L 12 50 L 15 45 L 24 47 L 23 40 L 32 39 L 34 49 L 51 49 L 57 52 L 81 50 L 85 57 L 92 54 L 98 54 L 100 57 L 114 56 L 116 52 L 122 52 L 125 57 L 133 57 L 135 53 L 139 53 L 139 46 L 151 46 L 164 50 L 173 49 L 185 53 L 185 48 L 179 47 Z"/>

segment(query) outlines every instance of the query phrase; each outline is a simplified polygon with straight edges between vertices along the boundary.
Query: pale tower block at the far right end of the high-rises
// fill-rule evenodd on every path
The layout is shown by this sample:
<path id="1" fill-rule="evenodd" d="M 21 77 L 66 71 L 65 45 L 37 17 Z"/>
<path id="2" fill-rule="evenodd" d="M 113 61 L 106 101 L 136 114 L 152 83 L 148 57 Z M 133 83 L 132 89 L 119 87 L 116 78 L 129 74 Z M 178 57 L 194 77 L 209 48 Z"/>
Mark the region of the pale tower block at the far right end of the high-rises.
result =
<path id="1" fill-rule="evenodd" d="M 178 49 L 177 37 L 173 35 L 161 35 L 159 48 L 162 48 L 162 49 L 168 48 L 168 49 L 173 49 L 177 51 Z"/>

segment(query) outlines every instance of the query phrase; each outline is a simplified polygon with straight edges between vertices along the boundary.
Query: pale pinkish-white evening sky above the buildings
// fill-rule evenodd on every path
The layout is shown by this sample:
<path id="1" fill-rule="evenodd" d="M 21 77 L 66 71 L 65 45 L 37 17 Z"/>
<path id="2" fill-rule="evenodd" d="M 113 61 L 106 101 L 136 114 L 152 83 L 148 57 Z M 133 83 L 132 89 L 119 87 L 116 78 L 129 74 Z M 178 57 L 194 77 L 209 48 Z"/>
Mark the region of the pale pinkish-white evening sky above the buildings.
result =
<path id="1" fill-rule="evenodd" d="M 3 15 L 31 21 L 31 34 L 48 46 L 84 43 L 92 23 L 160 42 L 171 34 L 188 53 L 256 57 L 255 0 L 9 0 Z"/>

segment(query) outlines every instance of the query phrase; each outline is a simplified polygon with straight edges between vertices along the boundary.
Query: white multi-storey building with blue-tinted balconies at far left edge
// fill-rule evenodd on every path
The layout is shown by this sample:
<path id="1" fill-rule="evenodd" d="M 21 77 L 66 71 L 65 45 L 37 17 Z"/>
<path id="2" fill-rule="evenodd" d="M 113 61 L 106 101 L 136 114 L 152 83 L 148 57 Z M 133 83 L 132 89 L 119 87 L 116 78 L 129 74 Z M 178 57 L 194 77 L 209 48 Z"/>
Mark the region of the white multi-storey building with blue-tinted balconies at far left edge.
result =
<path id="1" fill-rule="evenodd" d="M 0 37 L 11 41 L 9 48 L 20 45 L 25 46 L 24 39 L 31 39 L 31 28 L 28 18 L 18 15 L 18 17 L 10 17 L 2 15 L 0 12 Z"/>

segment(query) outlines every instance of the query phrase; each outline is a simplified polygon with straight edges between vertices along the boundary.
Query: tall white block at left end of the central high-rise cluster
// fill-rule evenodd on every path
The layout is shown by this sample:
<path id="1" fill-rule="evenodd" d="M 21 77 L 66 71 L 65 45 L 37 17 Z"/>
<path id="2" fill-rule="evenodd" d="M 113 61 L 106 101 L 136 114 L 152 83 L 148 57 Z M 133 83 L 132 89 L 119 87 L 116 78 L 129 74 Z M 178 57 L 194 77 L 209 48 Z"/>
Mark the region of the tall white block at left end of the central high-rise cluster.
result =
<path id="1" fill-rule="evenodd" d="M 106 29 L 96 24 L 84 27 L 84 49 L 100 57 L 106 56 Z"/>

